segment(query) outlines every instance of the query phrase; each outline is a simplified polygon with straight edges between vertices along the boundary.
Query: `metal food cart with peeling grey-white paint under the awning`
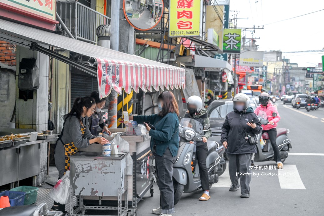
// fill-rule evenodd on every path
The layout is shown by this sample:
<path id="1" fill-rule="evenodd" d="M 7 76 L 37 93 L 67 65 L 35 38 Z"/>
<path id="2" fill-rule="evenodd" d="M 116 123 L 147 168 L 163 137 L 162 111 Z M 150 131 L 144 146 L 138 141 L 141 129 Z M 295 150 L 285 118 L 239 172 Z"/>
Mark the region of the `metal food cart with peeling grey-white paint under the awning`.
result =
<path id="1" fill-rule="evenodd" d="M 121 132 L 125 129 L 111 129 Z M 112 140 L 114 137 L 108 137 Z M 122 135 L 129 143 L 133 163 L 127 175 L 126 155 L 101 155 L 101 145 L 79 149 L 70 157 L 70 200 L 76 196 L 76 205 L 70 202 L 70 216 L 136 215 L 137 203 L 150 190 L 153 196 L 154 168 L 150 137 L 146 134 Z"/>

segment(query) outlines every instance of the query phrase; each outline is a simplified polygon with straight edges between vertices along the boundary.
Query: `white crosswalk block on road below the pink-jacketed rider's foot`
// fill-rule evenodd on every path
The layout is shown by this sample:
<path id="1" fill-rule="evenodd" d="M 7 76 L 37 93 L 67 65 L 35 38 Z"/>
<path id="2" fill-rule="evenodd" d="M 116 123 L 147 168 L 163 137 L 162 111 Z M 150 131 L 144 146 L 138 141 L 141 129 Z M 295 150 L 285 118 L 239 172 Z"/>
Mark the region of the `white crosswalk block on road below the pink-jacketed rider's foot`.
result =
<path id="1" fill-rule="evenodd" d="M 296 165 L 286 164 L 283 169 L 278 169 L 278 178 L 281 189 L 306 189 Z"/>

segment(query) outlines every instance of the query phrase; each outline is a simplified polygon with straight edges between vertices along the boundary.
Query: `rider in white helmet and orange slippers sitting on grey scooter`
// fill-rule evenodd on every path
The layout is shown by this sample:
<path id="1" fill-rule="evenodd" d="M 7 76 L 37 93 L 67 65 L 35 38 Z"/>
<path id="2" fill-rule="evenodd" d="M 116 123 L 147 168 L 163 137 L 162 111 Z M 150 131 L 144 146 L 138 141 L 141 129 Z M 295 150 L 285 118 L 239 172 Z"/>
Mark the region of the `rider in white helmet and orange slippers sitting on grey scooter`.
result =
<path id="1" fill-rule="evenodd" d="M 203 109 L 203 101 L 198 96 L 191 96 L 187 100 L 188 113 L 185 114 L 185 118 L 191 118 L 200 122 L 203 126 L 209 124 L 209 118 L 207 110 Z M 208 130 L 204 132 L 203 140 L 196 143 L 196 156 L 199 166 L 199 175 L 202 182 L 203 195 L 199 198 L 201 201 L 207 201 L 209 196 L 209 178 L 206 165 L 206 158 L 208 153 L 207 139 L 212 135 L 212 131 Z"/>

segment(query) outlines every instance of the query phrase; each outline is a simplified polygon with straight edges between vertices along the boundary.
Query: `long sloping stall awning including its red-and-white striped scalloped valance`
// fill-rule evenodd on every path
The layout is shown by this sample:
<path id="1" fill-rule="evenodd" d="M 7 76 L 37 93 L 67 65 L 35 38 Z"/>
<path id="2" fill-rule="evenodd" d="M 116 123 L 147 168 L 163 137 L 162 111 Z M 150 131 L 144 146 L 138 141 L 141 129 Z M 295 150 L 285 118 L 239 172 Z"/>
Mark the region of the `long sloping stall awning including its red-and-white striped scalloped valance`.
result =
<path id="1" fill-rule="evenodd" d="M 98 91 L 101 98 L 109 95 L 112 89 L 121 94 L 123 89 L 126 93 L 130 93 L 132 89 L 138 92 L 140 88 L 146 92 L 153 89 L 158 91 L 159 88 L 162 90 L 173 90 L 173 88 L 185 87 L 185 70 L 183 68 L 99 47 L 3 19 L 0 19 L 0 38 L 47 55 L 52 53 L 51 56 L 53 58 L 68 64 L 72 62 L 71 65 L 73 67 L 92 75 L 97 75 Z M 60 57 L 57 53 L 53 54 L 44 45 L 88 56 L 89 65 L 96 66 L 97 71 L 94 70 L 94 67 L 89 67 L 79 62 L 75 63 L 72 59 Z"/>

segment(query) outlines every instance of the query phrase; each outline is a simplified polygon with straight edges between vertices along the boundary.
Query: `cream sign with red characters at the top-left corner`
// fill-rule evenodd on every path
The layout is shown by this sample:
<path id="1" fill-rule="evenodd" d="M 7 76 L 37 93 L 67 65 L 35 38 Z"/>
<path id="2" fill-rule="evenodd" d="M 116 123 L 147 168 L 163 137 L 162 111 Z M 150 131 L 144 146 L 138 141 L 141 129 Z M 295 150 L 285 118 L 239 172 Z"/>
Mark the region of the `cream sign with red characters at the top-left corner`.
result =
<path id="1" fill-rule="evenodd" d="M 21 11 L 56 20 L 56 0 L 1 0 L 0 2 Z"/>

